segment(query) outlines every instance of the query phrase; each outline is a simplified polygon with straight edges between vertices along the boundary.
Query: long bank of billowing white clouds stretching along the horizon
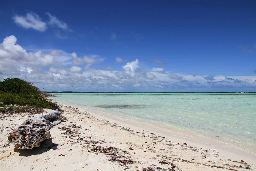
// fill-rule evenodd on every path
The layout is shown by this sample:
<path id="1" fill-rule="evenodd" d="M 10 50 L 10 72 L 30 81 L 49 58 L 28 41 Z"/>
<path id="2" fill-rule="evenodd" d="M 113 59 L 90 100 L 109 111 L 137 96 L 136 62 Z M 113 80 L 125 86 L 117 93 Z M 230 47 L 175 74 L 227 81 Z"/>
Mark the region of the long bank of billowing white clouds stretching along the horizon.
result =
<path id="1" fill-rule="evenodd" d="M 13 35 L 0 44 L 0 79 L 22 78 L 47 91 L 253 91 L 255 76 L 200 76 L 140 68 L 138 59 L 121 71 L 92 68 L 104 60 L 97 55 L 78 57 L 75 52 L 38 50 L 27 52 Z M 144 67 L 144 66 L 143 66 Z M 214 80 L 214 81 L 213 81 Z"/>

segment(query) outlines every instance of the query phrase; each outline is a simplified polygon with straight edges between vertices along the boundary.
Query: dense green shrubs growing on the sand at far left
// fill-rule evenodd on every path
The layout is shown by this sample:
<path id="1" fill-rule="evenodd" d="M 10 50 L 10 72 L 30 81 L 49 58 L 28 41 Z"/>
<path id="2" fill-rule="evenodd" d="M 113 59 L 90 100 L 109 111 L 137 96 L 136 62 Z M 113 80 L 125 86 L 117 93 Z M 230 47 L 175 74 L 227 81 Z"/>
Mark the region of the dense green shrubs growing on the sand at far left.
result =
<path id="1" fill-rule="evenodd" d="M 59 109 L 56 102 L 49 101 L 45 97 L 48 97 L 47 93 L 25 80 L 7 78 L 0 81 L 1 112 L 6 110 L 6 105 L 9 105 L 10 109 L 13 108 L 12 105 Z"/>

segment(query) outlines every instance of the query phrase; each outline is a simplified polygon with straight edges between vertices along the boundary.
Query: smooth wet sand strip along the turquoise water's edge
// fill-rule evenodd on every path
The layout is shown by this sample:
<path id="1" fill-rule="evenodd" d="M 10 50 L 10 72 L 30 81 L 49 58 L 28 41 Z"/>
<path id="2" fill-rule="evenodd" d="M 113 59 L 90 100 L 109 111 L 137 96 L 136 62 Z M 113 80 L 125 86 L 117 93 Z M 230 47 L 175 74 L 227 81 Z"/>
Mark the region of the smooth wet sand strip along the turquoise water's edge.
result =
<path id="1" fill-rule="evenodd" d="M 219 139 L 210 137 L 208 135 L 203 135 L 191 130 L 185 130 L 180 129 L 172 126 L 161 126 L 158 124 L 153 123 L 147 123 L 143 121 L 138 121 L 135 119 L 130 119 L 128 117 L 124 116 L 116 116 L 112 113 L 107 113 L 104 110 L 95 109 L 95 108 L 88 108 L 88 107 L 82 107 L 80 105 L 76 105 L 69 102 L 63 102 L 58 101 L 57 103 L 66 105 L 66 106 L 73 106 L 75 108 L 78 108 L 81 111 L 89 111 L 91 114 L 95 115 L 96 117 L 100 117 L 105 120 L 111 120 L 112 122 L 117 122 L 119 124 L 125 124 L 127 127 L 130 127 L 131 125 L 133 127 L 137 127 L 137 129 L 147 129 L 148 131 L 155 131 L 158 134 L 161 134 L 165 137 L 174 138 L 177 139 L 179 143 L 182 143 L 183 140 L 189 141 L 192 144 L 195 145 L 203 145 L 206 147 L 211 148 L 218 148 L 219 150 L 223 151 L 230 151 L 235 152 L 238 154 L 242 154 L 245 156 L 255 157 L 256 158 L 256 149 L 251 147 L 249 148 L 246 146 L 247 144 L 241 144 L 237 141 L 233 141 L 230 139 Z M 254 150 L 254 151 L 253 151 Z"/>

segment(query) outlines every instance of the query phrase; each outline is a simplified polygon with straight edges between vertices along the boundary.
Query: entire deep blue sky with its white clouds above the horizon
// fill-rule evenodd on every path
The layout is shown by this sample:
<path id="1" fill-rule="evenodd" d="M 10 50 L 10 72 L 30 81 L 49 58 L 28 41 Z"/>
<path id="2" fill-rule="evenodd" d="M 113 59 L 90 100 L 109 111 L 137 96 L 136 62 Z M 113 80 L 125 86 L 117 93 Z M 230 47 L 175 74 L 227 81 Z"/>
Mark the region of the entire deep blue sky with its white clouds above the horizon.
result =
<path id="1" fill-rule="evenodd" d="M 0 79 L 46 91 L 256 91 L 256 1 L 4 1 Z"/>

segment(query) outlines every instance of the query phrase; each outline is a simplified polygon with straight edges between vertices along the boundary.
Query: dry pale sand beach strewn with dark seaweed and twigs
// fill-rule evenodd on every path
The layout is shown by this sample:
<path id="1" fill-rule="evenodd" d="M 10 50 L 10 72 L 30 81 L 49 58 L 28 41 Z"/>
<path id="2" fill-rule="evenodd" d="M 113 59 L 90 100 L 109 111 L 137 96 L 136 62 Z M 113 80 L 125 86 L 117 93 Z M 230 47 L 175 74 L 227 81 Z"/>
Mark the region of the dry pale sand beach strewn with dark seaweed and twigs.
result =
<path id="1" fill-rule="evenodd" d="M 232 147 L 157 132 L 77 107 L 60 108 L 63 122 L 32 150 L 16 150 L 7 135 L 41 114 L 0 114 L 0 170 L 256 170 L 254 154 Z"/>

